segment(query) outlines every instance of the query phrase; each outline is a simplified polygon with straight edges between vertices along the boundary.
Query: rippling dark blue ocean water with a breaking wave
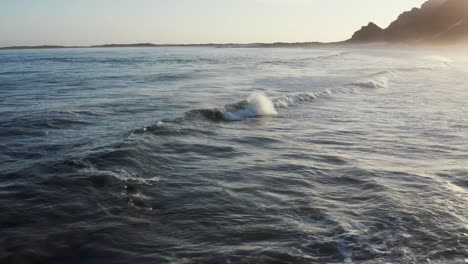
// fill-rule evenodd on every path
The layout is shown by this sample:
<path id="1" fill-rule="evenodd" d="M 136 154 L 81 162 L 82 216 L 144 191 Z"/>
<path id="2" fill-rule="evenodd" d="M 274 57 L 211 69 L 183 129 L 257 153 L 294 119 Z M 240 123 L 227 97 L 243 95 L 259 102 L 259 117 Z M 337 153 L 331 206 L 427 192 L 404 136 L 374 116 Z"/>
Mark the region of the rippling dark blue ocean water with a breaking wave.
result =
<path id="1" fill-rule="evenodd" d="M 468 53 L 0 51 L 0 263 L 467 263 Z"/>

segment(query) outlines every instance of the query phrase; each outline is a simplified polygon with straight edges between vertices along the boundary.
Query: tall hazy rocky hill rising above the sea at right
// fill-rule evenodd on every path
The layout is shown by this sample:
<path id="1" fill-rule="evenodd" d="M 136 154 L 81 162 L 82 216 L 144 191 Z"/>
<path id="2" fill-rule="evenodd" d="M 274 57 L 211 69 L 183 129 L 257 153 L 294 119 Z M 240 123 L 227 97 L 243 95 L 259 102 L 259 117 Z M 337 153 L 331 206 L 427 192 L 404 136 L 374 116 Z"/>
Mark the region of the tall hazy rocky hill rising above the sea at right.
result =
<path id="1" fill-rule="evenodd" d="M 468 40 L 468 0 L 429 0 L 386 29 L 362 27 L 348 42 L 449 43 Z"/>

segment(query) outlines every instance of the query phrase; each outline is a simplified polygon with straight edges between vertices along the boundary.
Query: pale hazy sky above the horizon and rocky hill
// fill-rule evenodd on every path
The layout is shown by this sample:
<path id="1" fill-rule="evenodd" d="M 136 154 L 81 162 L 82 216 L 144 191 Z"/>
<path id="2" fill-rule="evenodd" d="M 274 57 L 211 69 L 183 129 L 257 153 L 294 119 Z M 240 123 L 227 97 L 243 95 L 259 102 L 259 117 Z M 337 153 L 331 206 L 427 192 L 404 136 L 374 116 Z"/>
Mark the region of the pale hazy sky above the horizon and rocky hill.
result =
<path id="1" fill-rule="evenodd" d="M 424 0 L 0 0 L 0 46 L 338 41 Z"/>

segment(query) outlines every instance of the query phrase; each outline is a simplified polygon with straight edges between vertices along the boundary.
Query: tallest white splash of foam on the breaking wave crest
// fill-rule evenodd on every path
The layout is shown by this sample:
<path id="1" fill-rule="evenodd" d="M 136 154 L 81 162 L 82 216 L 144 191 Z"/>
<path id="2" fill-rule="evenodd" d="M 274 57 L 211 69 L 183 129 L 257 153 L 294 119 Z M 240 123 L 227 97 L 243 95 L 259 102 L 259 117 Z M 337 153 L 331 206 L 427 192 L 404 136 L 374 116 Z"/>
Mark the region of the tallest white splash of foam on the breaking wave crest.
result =
<path id="1" fill-rule="evenodd" d="M 255 93 L 247 98 L 244 107 L 236 111 L 225 111 L 223 116 L 226 120 L 242 120 L 247 117 L 274 116 L 277 114 L 273 102 L 266 95 Z"/>

